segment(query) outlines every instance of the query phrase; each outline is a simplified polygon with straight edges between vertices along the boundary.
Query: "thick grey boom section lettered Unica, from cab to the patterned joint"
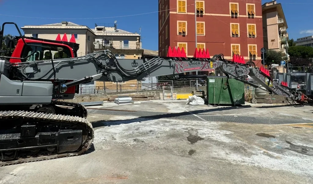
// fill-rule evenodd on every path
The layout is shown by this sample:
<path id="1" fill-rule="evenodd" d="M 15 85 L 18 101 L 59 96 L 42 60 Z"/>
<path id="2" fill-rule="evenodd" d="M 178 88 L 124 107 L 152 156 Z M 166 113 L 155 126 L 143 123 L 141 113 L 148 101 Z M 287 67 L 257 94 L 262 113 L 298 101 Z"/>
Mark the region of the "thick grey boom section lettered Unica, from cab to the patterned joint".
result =
<path id="1" fill-rule="evenodd" d="M 97 80 L 113 82 L 143 79 L 149 76 L 173 75 L 209 68 L 208 60 L 164 58 L 117 60 L 109 50 L 98 51 L 78 58 L 54 60 L 54 64 L 56 79 L 76 80 L 86 76 L 103 74 Z M 53 79 L 54 73 L 51 68 L 51 61 L 32 61 L 18 65 L 20 74 L 31 79 Z"/>

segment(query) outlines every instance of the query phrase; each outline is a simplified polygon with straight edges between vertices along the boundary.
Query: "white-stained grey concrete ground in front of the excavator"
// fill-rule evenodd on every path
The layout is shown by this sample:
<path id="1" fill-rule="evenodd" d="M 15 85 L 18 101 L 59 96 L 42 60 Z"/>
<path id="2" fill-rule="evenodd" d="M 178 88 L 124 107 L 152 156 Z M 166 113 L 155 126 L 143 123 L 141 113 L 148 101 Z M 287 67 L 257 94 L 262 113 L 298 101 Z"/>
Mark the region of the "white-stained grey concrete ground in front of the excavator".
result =
<path id="1" fill-rule="evenodd" d="M 111 103 L 101 108 L 159 112 L 209 108 L 184 103 Z M 244 109 L 229 107 L 208 112 L 208 115 L 311 119 L 312 113 L 307 112 L 313 112 L 312 107 L 251 105 Z M 0 184 L 313 181 L 313 126 L 145 119 L 102 114 L 89 114 L 87 119 L 95 129 L 93 148 L 88 153 L 0 167 Z"/>

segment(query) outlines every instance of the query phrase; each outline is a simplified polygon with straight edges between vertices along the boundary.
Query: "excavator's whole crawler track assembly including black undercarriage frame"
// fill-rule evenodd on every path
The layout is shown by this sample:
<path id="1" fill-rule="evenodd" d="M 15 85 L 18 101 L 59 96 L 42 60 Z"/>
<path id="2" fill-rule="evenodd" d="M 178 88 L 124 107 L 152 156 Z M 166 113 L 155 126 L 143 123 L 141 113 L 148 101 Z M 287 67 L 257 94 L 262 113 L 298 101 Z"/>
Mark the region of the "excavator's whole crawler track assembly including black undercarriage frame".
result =
<path id="1" fill-rule="evenodd" d="M 16 139 L 13 140 L 13 141 L 16 141 L 16 145 L 19 145 L 20 143 L 26 144 L 27 140 L 31 142 L 36 137 L 38 139 L 38 136 L 40 138 L 40 135 L 45 136 L 45 137 L 44 139 L 35 140 L 36 146 L 23 147 L 22 145 L 19 147 L 12 148 L 12 143 L 11 143 L 12 137 L 14 137 L 14 135 L 16 134 L 12 132 L 11 134 L 5 134 L 7 133 L 7 130 L 5 130 L 3 134 L 3 131 L 2 131 L 0 134 L 0 141 L 3 147 L 1 147 L 1 144 L 0 144 L 0 157 L 1 157 L 0 166 L 14 165 L 14 164 L 19 164 L 19 163 L 33 162 L 33 161 L 50 160 L 50 159 L 56 159 L 56 158 L 61 158 L 61 157 L 78 156 L 90 148 L 93 142 L 93 138 L 94 138 L 94 132 L 93 132 L 93 127 L 91 123 L 88 122 L 85 118 L 81 118 L 78 116 L 47 114 L 43 112 L 32 112 L 32 111 L 0 111 L 1 125 L 5 125 L 5 123 L 8 124 L 10 123 L 10 121 L 18 122 L 19 125 L 24 125 L 24 128 L 25 128 L 25 125 L 26 125 L 26 128 L 27 128 L 27 125 L 36 126 L 35 137 L 32 137 L 32 136 L 27 137 L 27 135 L 32 133 L 31 127 L 30 128 L 28 127 L 28 129 L 24 129 L 24 130 L 27 130 L 26 132 L 28 132 L 28 134 L 27 133 L 25 134 L 25 132 L 23 132 L 23 129 L 21 129 L 20 135 L 17 136 Z M 59 131 L 58 132 L 37 132 L 38 130 L 48 129 L 48 127 L 50 129 L 54 128 L 54 130 L 58 129 Z M 77 137 L 78 140 L 81 139 L 80 145 L 77 145 L 76 143 L 76 146 L 78 147 L 77 150 L 66 152 L 64 151 L 64 145 L 62 145 L 62 143 L 64 142 L 64 138 L 62 138 L 62 136 L 64 137 L 64 133 L 67 134 L 65 136 L 68 136 L 71 133 L 71 131 L 73 130 L 75 131 L 75 129 L 73 129 L 74 127 L 76 127 L 76 132 L 82 131 L 82 132 L 85 132 L 85 135 L 81 134 L 82 136 L 80 136 L 78 134 L 78 137 L 77 137 L 75 134 L 71 134 L 74 136 L 70 136 L 70 138 L 65 137 L 65 142 L 67 140 L 75 140 L 75 136 Z M 66 128 L 71 128 L 71 130 L 66 129 Z M 5 135 L 9 135 L 9 136 L 5 136 Z M 48 135 L 48 138 L 50 138 L 50 142 L 48 141 L 49 143 L 51 143 L 51 136 L 54 135 L 55 142 L 57 144 L 45 145 L 45 144 L 48 144 L 48 142 L 46 141 L 48 140 L 47 135 Z M 6 141 L 5 138 L 8 138 L 8 140 Z M 24 142 L 23 142 L 23 139 L 24 139 Z M 69 146 L 72 146 L 71 142 L 67 142 L 67 144 Z M 68 145 L 65 145 L 65 147 Z M 61 149 L 63 149 L 63 152 L 59 152 Z M 12 152 L 13 156 L 12 154 L 8 154 L 8 152 L 10 153 Z M 8 157 L 5 158 L 5 156 L 8 156 L 8 157 L 11 156 L 11 159 L 10 158 L 8 159 Z"/>

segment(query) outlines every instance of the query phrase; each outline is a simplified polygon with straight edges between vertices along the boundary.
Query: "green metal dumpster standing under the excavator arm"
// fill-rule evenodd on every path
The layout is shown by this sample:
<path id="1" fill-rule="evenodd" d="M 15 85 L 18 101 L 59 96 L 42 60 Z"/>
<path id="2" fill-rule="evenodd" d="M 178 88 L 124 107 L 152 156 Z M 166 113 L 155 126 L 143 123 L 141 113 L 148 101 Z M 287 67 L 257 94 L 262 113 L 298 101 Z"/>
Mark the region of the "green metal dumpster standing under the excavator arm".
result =
<path id="1" fill-rule="evenodd" d="M 244 83 L 224 76 L 208 77 L 207 98 L 211 105 L 242 105 Z"/>

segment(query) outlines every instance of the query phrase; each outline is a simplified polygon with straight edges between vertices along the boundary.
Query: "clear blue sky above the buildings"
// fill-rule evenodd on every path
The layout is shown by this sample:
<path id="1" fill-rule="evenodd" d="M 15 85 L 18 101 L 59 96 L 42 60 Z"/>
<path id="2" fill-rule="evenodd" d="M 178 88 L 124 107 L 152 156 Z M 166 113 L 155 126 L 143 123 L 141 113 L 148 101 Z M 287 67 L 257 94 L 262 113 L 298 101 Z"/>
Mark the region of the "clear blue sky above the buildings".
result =
<path id="1" fill-rule="evenodd" d="M 251 0 L 248 1 L 251 2 Z M 265 2 L 269 1 L 262 0 L 262 3 Z M 310 34 L 313 33 L 313 19 L 311 16 L 313 8 L 312 0 L 277 0 L 277 3 L 282 3 L 288 24 L 287 32 L 289 33 L 290 39 L 312 35 Z M 126 31 L 137 31 L 139 33 L 139 28 L 141 27 L 142 47 L 150 50 L 158 49 L 158 13 L 119 18 L 103 18 L 156 12 L 158 11 L 158 0 L 54 0 L 49 1 L 49 4 L 43 3 L 42 0 L 0 0 L 0 8 L 0 14 L 4 15 L 44 18 L 21 18 L 0 15 L 1 24 L 3 22 L 15 22 L 18 24 L 18 27 L 70 21 L 94 28 L 95 23 L 113 23 L 117 20 L 118 28 Z M 59 12 L 57 13 L 57 11 Z M 221 23 L 216 28 L 229 29 L 224 23 Z M 8 33 L 13 35 L 18 34 L 12 26 L 6 27 L 4 34 Z"/>

